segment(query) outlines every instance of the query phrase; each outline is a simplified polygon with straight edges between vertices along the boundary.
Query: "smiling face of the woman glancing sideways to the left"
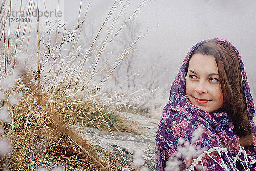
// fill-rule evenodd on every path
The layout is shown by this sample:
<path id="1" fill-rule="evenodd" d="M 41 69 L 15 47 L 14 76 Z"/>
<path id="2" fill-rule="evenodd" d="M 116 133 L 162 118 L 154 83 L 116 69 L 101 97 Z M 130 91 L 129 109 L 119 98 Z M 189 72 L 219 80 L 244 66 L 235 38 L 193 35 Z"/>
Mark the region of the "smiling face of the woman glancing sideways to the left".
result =
<path id="1" fill-rule="evenodd" d="M 186 95 L 196 107 L 210 113 L 223 105 L 218 67 L 214 56 L 194 54 L 186 75 Z"/>

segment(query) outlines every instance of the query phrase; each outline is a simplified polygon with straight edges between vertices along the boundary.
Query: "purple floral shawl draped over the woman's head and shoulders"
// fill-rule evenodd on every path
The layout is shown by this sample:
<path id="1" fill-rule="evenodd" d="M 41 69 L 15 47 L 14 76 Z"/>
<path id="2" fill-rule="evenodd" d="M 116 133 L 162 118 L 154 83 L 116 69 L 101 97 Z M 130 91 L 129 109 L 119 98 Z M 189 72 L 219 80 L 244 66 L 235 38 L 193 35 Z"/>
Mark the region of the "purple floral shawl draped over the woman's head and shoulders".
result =
<path id="1" fill-rule="evenodd" d="M 188 52 L 179 70 L 179 73 L 177 74 L 174 82 L 172 83 L 169 102 L 163 109 L 163 114 L 156 132 L 155 162 L 157 171 L 164 171 L 168 157 L 174 156 L 175 152 L 177 151 L 178 139 L 182 137 L 185 141 L 191 142 L 193 136 L 192 133 L 198 128 L 198 126 L 202 128 L 203 133 L 198 141 L 195 143 L 195 146 L 201 145 L 201 147 L 206 147 L 207 149 L 212 147 L 227 148 L 228 157 L 231 160 L 233 160 L 233 157 L 235 157 L 239 151 L 239 136 L 234 133 L 234 126 L 231 121 L 230 114 L 225 113 L 224 111 L 207 113 L 204 110 L 201 110 L 195 105 L 191 104 L 188 96 L 186 95 L 186 63 L 189 60 L 192 51 L 202 43 L 208 41 L 224 41 L 236 51 L 241 67 L 244 93 L 247 102 L 247 113 L 250 117 L 252 125 L 253 145 L 256 145 L 256 128 L 254 122 L 252 121 L 255 113 L 254 104 L 241 56 L 237 49 L 229 41 L 217 38 L 204 40 L 200 43 L 197 43 Z M 256 151 L 256 148 L 254 149 Z M 254 159 L 256 159 L 256 154 L 253 149 L 247 150 L 246 154 L 250 154 Z M 219 159 L 218 157 L 216 157 L 216 160 L 223 161 L 225 164 L 227 164 L 228 170 L 233 170 L 232 168 L 234 167 L 228 163 L 227 157 L 223 158 L 224 161 L 222 159 Z M 244 158 L 241 157 L 241 162 L 244 162 L 243 159 Z M 180 160 L 186 163 L 183 158 L 180 158 Z M 250 163 L 251 164 L 248 165 L 248 168 L 250 170 L 255 170 L 255 162 Z M 216 162 L 211 158 L 206 157 L 206 159 L 203 159 L 203 164 L 206 167 L 205 170 L 223 170 L 223 168 L 216 165 Z M 237 167 L 239 168 L 239 163 Z"/>

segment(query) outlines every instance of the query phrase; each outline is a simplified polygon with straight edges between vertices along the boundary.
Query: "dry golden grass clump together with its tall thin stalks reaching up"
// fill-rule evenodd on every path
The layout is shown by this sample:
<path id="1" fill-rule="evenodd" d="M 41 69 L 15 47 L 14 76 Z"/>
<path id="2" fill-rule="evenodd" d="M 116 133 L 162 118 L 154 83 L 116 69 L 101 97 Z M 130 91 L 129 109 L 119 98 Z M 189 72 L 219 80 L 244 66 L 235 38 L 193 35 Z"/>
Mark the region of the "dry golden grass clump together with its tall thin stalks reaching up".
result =
<path id="1" fill-rule="evenodd" d="M 23 42 L 23 38 L 26 37 L 26 34 L 30 34 L 30 31 L 26 32 L 24 28 L 20 28 L 16 33 L 11 33 L 15 36 L 17 34 L 17 39 L 12 42 L 12 46 L 10 45 L 10 32 L 5 30 L 4 27 L 4 23 L 6 22 L 6 18 L 3 15 L 4 3 L 5 1 L 3 1 L 0 7 L 0 32 L 1 34 L 3 33 L 0 44 L 1 52 L 3 52 L 2 54 L 4 55 L 3 65 L 5 69 L 3 71 L 4 74 L 1 76 L 6 78 L 9 73 L 13 72 L 14 68 L 22 69 L 20 69 L 17 84 L 7 91 L 3 91 L 3 87 L 1 87 L 1 91 L 3 91 L 6 96 L 9 96 L 11 93 L 17 95 L 21 92 L 23 96 L 19 99 L 17 105 L 11 105 L 8 99 L 3 99 L 0 102 L 2 106 L 9 106 L 9 114 L 12 118 L 11 123 L 0 122 L 0 128 L 4 128 L 5 130 L 5 132 L 0 135 L 0 138 L 6 137 L 12 144 L 12 151 L 10 151 L 7 156 L 0 158 L 1 169 L 9 168 L 15 171 L 30 171 L 34 169 L 32 165 L 44 166 L 46 161 L 57 163 L 58 165 L 68 165 L 86 171 L 119 171 L 122 170 L 123 167 L 127 167 L 128 165 L 125 163 L 124 158 L 123 161 L 119 161 L 113 154 L 109 154 L 101 148 L 91 145 L 89 141 L 84 139 L 71 127 L 72 124 L 80 122 L 85 126 L 109 131 L 112 136 L 113 130 L 137 133 L 136 129 L 134 129 L 130 123 L 127 123 L 124 118 L 114 112 L 115 109 L 120 108 L 123 104 L 111 107 L 104 106 L 102 105 L 102 101 L 106 101 L 95 99 L 94 97 L 97 89 L 102 87 L 113 70 L 115 70 L 140 39 L 138 38 L 128 49 L 125 49 L 116 59 L 116 62 L 109 67 L 109 70 L 105 70 L 104 64 L 100 67 L 97 66 L 97 64 L 99 64 L 99 58 L 105 50 L 105 46 L 108 45 L 107 40 L 111 39 L 110 42 L 113 41 L 125 23 L 131 18 L 128 18 L 113 37 L 109 38 L 116 21 L 122 14 L 127 3 L 125 3 L 119 15 L 116 17 L 115 22 L 113 22 L 111 28 L 108 30 L 105 41 L 100 45 L 100 53 L 95 56 L 93 64 L 91 64 L 89 69 L 86 72 L 83 70 L 85 62 L 87 61 L 86 59 L 92 54 L 94 43 L 104 27 L 105 21 L 108 20 L 113 10 L 119 6 L 122 1 L 116 1 L 113 4 L 112 9 L 99 29 L 98 35 L 90 45 L 84 57 L 84 61 L 81 62 L 78 67 L 70 71 L 65 70 L 65 73 L 61 73 L 58 70 L 59 63 L 53 64 L 51 62 L 49 73 L 55 73 L 55 68 L 57 68 L 57 75 L 62 74 L 63 77 L 60 81 L 55 81 L 53 78 L 53 81 L 49 81 L 47 85 L 44 82 L 42 84 L 43 79 L 40 77 L 42 72 L 42 56 L 48 54 L 49 57 L 51 52 L 55 52 L 55 54 L 61 53 L 61 47 L 64 44 L 62 42 L 63 37 L 59 45 L 57 44 L 52 47 L 52 49 L 41 50 L 40 47 L 42 45 L 40 43 L 44 35 L 39 35 L 40 28 L 38 27 L 38 41 L 36 42 L 37 54 L 34 56 L 38 59 L 38 70 L 34 72 L 34 75 L 31 75 L 30 72 L 32 71 L 29 72 L 27 70 L 29 67 L 20 67 L 17 61 L 17 55 L 21 52 L 21 45 L 26 44 L 27 46 L 29 44 L 29 39 L 27 42 Z M 37 3 L 38 1 L 36 1 L 36 5 Z M 143 5 L 145 4 L 142 4 L 142 6 Z M 132 15 L 136 14 L 138 9 Z M 80 26 L 80 32 L 81 28 L 82 25 Z M 24 31 L 22 32 L 21 30 Z M 79 30 L 77 30 L 77 32 L 79 34 L 75 37 L 69 64 L 74 57 L 75 49 L 79 42 L 80 32 Z M 20 35 L 21 37 L 19 37 Z M 33 44 L 35 44 L 35 42 L 33 42 Z M 17 49 L 17 47 L 20 49 Z M 28 46 L 25 48 L 28 49 Z M 110 59 L 111 58 L 113 58 L 113 56 L 111 56 Z M 52 61 L 52 56 L 50 56 L 50 60 Z M 105 72 L 103 73 L 103 78 L 99 79 L 100 81 L 96 90 L 90 91 L 88 89 L 90 86 L 89 82 L 93 78 L 96 78 L 102 70 Z M 57 78 L 57 75 L 54 75 L 54 77 Z M 41 87 L 42 85 L 44 86 Z M 83 90 L 83 92 L 80 90 Z M 111 108 L 111 110 L 106 111 L 106 107 L 108 107 L 108 109 Z M 130 170 L 135 170 L 131 169 L 130 166 L 129 168 Z"/>

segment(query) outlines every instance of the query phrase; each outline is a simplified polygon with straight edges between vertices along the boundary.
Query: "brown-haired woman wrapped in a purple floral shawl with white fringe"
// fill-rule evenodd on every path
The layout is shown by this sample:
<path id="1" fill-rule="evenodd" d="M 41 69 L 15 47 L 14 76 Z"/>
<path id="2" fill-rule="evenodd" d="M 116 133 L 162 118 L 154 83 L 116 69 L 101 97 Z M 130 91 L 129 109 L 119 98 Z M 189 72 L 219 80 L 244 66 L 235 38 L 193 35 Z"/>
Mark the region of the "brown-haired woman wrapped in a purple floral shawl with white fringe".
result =
<path id="1" fill-rule="evenodd" d="M 157 171 L 175 170 L 174 164 L 177 170 L 256 170 L 254 113 L 236 48 L 222 39 L 197 43 L 172 84 L 158 125 Z"/>

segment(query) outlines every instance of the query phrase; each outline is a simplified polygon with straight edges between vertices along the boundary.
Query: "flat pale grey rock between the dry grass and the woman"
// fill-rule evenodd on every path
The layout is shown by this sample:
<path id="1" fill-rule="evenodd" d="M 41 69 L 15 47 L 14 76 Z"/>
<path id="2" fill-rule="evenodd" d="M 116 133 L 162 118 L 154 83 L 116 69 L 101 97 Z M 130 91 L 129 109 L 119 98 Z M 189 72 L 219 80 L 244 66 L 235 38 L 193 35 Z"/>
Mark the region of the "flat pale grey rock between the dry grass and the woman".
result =
<path id="1" fill-rule="evenodd" d="M 120 113 L 120 115 L 125 117 L 127 122 L 137 122 L 136 128 L 140 135 L 113 131 L 115 141 L 111 133 L 108 132 L 102 132 L 89 127 L 81 128 L 75 126 L 74 128 L 93 145 L 99 145 L 105 151 L 116 154 L 116 157 L 121 161 L 123 161 L 120 154 L 120 151 L 122 151 L 122 155 L 128 165 L 131 165 L 136 150 L 139 149 L 143 151 L 144 165 L 147 166 L 149 170 L 155 170 L 155 132 L 159 120 L 132 113 Z"/>

